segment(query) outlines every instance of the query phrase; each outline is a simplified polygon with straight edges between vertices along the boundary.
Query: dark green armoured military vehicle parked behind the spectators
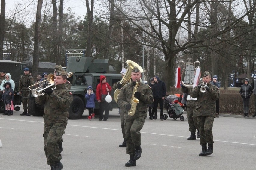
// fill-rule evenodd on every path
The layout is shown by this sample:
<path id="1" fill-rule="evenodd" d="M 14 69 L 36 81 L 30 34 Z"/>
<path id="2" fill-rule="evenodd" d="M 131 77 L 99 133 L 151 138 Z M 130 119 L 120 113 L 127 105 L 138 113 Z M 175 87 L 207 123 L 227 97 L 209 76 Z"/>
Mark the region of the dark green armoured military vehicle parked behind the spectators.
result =
<path id="1" fill-rule="evenodd" d="M 69 57 L 68 65 L 65 68 L 67 72 L 72 72 L 73 75 L 68 78 L 71 83 L 71 92 L 73 95 L 73 101 L 69 107 L 69 119 L 80 119 L 86 109 L 86 98 L 88 86 L 93 87 L 93 92 L 96 94 L 96 87 L 99 84 L 100 75 L 106 76 L 106 80 L 110 86 L 117 83 L 122 79 L 121 74 L 117 74 L 114 66 L 108 65 L 108 60 L 95 59 L 92 62 L 92 57 Z M 110 94 L 113 98 L 114 90 Z M 99 114 L 99 103 L 95 102 L 94 112 Z M 112 108 L 118 107 L 114 98 L 111 102 Z M 65 107 L 65 106 L 63 106 Z M 35 104 L 35 100 L 31 98 L 29 101 L 29 108 L 33 110 L 31 113 L 34 116 L 43 116 L 44 108 Z M 111 110 L 112 110 L 111 108 Z M 85 114 L 88 114 L 85 112 Z"/>

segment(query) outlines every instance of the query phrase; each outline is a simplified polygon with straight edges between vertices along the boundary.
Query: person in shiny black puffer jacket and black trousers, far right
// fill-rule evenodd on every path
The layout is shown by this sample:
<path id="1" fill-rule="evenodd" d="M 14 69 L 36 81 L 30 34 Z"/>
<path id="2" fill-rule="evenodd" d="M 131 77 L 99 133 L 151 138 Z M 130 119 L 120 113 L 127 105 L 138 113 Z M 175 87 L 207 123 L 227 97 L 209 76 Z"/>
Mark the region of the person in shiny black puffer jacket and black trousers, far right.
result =
<path id="1" fill-rule="evenodd" d="M 249 79 L 245 78 L 245 83 L 241 86 L 239 91 L 242 99 L 243 99 L 243 108 L 244 108 L 244 117 L 249 117 L 249 103 L 250 96 L 252 95 L 252 87 L 249 84 Z"/>

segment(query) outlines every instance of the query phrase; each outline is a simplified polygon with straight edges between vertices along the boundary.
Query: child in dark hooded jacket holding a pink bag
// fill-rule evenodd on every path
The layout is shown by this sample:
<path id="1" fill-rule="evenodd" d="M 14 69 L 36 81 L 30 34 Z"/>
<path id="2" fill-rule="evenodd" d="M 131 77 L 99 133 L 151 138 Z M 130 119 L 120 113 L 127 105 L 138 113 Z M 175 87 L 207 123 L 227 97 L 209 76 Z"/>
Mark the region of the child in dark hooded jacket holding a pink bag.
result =
<path id="1" fill-rule="evenodd" d="M 11 101 L 14 101 L 14 91 L 11 88 L 10 82 L 6 82 L 4 87 L 5 90 L 2 95 L 2 101 L 5 104 L 5 113 L 3 115 L 13 115 L 13 111 L 11 111 Z"/>

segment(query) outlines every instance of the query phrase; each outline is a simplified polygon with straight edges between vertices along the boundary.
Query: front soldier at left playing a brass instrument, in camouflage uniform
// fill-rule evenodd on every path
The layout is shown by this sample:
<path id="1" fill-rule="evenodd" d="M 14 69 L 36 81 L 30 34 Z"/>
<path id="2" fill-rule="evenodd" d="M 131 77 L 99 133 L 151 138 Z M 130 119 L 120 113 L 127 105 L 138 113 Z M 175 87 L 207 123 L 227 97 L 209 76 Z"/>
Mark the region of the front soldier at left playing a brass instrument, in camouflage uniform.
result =
<path id="1" fill-rule="evenodd" d="M 66 71 L 57 71 L 54 78 L 56 89 L 49 87 L 45 89 L 45 95 L 36 98 L 38 104 L 44 104 L 44 152 L 51 170 L 63 169 L 59 143 L 63 141 L 62 135 L 68 123 L 68 109 L 73 100 L 71 91 L 66 88 L 66 81 Z"/>

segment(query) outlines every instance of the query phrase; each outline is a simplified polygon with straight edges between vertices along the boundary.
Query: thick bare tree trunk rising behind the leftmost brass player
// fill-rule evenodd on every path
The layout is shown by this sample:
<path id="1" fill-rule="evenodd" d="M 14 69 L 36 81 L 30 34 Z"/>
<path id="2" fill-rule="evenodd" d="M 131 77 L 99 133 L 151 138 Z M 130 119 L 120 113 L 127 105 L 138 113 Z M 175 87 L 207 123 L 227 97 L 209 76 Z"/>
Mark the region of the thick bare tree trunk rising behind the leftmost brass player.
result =
<path id="1" fill-rule="evenodd" d="M 38 75 L 38 65 L 39 65 L 39 45 L 40 45 L 40 24 L 41 24 L 41 10 L 42 10 L 43 0 L 37 1 L 37 9 L 35 16 L 35 36 L 34 36 L 34 54 L 33 54 L 33 67 L 32 75 L 34 80 L 36 80 Z"/>

